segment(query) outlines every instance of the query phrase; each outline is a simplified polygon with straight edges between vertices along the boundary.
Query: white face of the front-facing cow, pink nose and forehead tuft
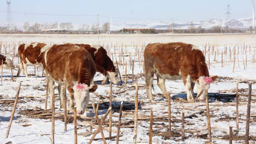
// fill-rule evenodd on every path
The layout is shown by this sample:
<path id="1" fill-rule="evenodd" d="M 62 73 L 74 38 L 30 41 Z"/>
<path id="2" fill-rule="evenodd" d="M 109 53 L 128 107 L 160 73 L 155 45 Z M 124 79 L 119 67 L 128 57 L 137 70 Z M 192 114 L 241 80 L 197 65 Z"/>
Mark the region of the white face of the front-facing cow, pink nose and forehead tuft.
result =
<path id="1" fill-rule="evenodd" d="M 90 100 L 89 93 L 94 92 L 96 89 L 97 85 L 88 87 L 88 85 L 86 84 L 76 84 L 73 87 L 77 114 L 85 113 L 85 108 L 87 107 Z"/>

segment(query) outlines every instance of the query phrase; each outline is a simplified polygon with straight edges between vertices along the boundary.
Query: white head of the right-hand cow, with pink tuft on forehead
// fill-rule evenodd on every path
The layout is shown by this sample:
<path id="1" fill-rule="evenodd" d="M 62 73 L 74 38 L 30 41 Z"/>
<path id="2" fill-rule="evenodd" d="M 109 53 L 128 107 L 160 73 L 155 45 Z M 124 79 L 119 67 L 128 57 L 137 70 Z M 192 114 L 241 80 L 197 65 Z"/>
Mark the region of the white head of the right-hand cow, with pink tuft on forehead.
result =
<path id="1" fill-rule="evenodd" d="M 205 90 L 208 92 L 208 89 L 210 89 L 210 84 L 216 83 L 216 79 L 218 76 L 212 76 L 212 77 L 205 77 L 201 76 L 196 80 L 196 91 L 197 91 L 197 97 L 199 96 L 199 100 L 203 101 L 205 99 Z"/>

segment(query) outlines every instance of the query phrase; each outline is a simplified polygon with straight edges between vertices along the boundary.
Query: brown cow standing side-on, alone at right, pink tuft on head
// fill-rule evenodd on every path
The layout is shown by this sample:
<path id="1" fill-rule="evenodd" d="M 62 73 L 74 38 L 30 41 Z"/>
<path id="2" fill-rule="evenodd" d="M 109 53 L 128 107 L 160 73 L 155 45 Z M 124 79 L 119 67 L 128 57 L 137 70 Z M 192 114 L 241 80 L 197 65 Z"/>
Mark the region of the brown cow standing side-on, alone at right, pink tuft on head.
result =
<path id="1" fill-rule="evenodd" d="M 165 97 L 169 95 L 165 80 L 183 80 L 187 90 L 187 100 L 194 101 L 193 88 L 197 83 L 199 100 L 205 99 L 205 91 L 210 83 L 215 83 L 217 76 L 209 77 L 205 57 L 198 47 L 186 43 L 152 43 L 144 51 L 146 91 L 150 101 L 152 97 L 153 76 Z"/>

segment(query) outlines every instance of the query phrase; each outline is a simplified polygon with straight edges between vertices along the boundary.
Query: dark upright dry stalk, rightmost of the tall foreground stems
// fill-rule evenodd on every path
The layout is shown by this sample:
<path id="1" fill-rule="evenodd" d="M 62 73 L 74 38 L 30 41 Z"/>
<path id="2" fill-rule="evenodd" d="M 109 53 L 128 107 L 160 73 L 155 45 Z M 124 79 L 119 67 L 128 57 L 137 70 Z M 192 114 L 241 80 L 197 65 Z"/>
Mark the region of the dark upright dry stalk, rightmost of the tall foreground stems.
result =
<path id="1" fill-rule="evenodd" d="M 245 144 L 249 144 L 249 128 L 250 128 L 251 99 L 252 99 L 252 83 L 249 83 L 249 96 L 248 96 L 247 115 L 246 115 L 246 136 L 245 136 Z"/>

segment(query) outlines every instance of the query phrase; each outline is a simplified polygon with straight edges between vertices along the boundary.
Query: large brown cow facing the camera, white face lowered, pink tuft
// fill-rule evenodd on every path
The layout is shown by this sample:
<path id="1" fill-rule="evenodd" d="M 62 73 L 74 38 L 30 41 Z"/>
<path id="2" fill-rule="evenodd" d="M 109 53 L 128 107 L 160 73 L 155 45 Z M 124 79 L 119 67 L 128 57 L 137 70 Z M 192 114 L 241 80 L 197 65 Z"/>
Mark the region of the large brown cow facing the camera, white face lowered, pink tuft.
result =
<path id="1" fill-rule="evenodd" d="M 55 82 L 68 87 L 70 95 L 69 108 L 76 100 L 77 113 L 83 114 L 89 102 L 89 92 L 94 92 L 97 85 L 90 87 L 96 73 L 91 54 L 84 48 L 67 43 L 53 45 L 46 50 L 42 59 L 43 67 Z"/>

